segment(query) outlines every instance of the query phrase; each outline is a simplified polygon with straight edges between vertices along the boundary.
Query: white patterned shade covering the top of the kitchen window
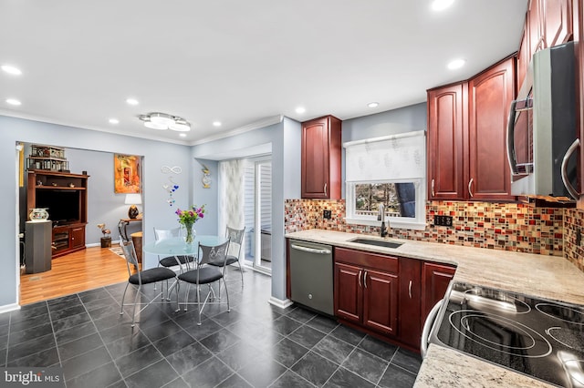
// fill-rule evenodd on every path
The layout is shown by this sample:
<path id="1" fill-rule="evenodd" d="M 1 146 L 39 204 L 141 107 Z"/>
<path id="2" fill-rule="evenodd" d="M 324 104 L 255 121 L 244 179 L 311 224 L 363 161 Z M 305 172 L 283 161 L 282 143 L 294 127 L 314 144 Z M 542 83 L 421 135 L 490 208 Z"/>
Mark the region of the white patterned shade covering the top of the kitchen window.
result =
<path id="1" fill-rule="evenodd" d="M 425 131 L 343 144 L 347 182 L 424 179 L 426 176 Z"/>

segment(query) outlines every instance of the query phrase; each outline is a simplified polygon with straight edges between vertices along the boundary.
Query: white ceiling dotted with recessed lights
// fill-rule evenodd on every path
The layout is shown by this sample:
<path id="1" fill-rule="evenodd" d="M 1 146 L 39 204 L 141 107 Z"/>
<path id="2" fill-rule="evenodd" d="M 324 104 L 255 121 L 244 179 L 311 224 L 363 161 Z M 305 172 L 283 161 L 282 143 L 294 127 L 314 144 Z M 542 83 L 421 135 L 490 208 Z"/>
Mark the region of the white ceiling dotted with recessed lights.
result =
<path id="1" fill-rule="evenodd" d="M 3 0 L 0 64 L 23 74 L 0 72 L 0 115 L 197 144 L 279 115 L 345 120 L 419 103 L 516 51 L 527 0 L 430 3 Z M 457 57 L 466 66 L 448 70 Z M 152 111 L 192 130 L 144 128 L 137 117 Z"/>

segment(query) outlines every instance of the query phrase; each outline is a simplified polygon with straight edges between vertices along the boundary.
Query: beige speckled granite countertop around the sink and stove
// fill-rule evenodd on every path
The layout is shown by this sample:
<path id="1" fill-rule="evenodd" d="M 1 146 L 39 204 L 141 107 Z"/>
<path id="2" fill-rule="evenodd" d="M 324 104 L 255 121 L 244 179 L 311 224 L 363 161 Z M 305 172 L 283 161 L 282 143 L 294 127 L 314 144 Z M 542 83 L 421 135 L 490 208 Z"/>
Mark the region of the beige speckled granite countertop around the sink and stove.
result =
<path id="1" fill-rule="evenodd" d="M 584 305 L 584 273 L 558 256 L 485 250 L 433 242 L 381 239 L 372 235 L 333 230 L 302 230 L 287 238 L 326 243 L 337 247 L 368 250 L 405 258 L 456 265 L 454 281 L 519 292 L 540 298 Z M 384 248 L 350 242 L 355 237 L 403 242 Z M 431 344 L 416 387 L 436 386 L 552 386 L 489 362 L 440 345 Z"/>

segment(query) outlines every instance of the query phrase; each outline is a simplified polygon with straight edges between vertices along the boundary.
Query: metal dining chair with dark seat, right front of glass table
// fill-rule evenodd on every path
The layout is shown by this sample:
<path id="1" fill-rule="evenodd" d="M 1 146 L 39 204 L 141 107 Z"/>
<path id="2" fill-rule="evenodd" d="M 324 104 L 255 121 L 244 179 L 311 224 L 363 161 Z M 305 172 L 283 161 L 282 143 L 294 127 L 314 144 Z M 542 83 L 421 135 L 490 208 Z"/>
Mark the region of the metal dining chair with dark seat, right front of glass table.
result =
<path id="1" fill-rule="evenodd" d="M 199 310 L 198 314 L 198 322 L 197 325 L 201 324 L 201 314 L 203 313 L 204 306 L 207 303 L 213 304 L 220 304 L 224 303 L 221 299 L 215 300 L 214 298 L 214 291 L 213 291 L 213 283 L 215 281 L 219 281 L 219 288 L 221 289 L 221 280 L 224 281 L 225 287 L 225 295 L 227 296 L 227 311 L 231 311 L 229 307 L 229 293 L 227 291 L 227 287 L 225 285 L 225 277 L 224 271 L 221 271 L 216 266 L 205 265 L 209 264 L 211 261 L 214 262 L 224 262 L 227 260 L 227 251 L 229 250 L 229 239 L 227 239 L 224 243 L 218 245 L 203 245 L 199 242 L 198 245 L 198 257 L 197 260 L 194 260 L 195 268 L 190 271 L 185 271 L 178 275 L 179 284 L 181 281 L 189 283 L 189 285 L 193 284 L 196 286 L 197 289 L 197 301 L 196 302 L 189 302 L 189 291 L 191 287 L 188 287 L 186 290 L 186 295 L 184 297 L 184 311 L 187 311 L 187 305 L 189 304 L 196 304 Z M 209 290 L 207 291 L 207 295 L 204 298 L 204 301 L 201 301 L 201 286 L 207 284 Z M 213 300 L 213 301 L 211 301 Z M 179 309 L 180 310 L 180 305 Z M 177 310 L 177 311 L 178 311 Z"/>

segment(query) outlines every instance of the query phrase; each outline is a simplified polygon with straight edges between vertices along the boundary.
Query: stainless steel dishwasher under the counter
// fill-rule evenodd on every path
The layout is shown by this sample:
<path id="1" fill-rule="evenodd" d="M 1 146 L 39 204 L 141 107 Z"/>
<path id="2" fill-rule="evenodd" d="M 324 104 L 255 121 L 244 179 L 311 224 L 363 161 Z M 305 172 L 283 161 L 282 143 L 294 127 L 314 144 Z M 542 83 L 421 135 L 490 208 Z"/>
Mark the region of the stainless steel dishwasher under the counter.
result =
<path id="1" fill-rule="evenodd" d="M 332 247 L 290 240 L 291 299 L 333 315 Z"/>

